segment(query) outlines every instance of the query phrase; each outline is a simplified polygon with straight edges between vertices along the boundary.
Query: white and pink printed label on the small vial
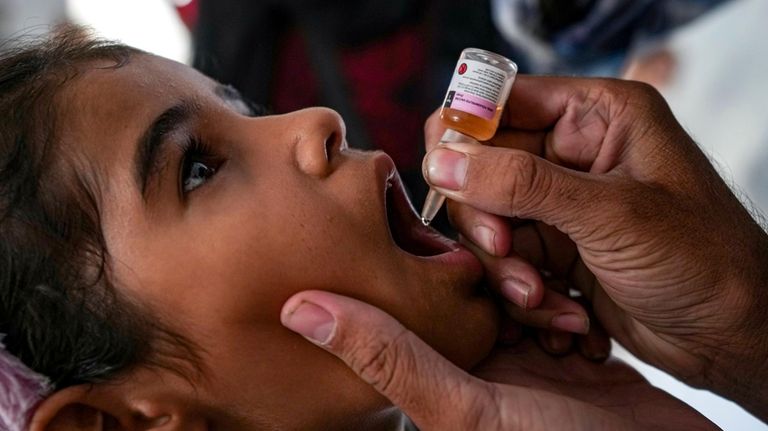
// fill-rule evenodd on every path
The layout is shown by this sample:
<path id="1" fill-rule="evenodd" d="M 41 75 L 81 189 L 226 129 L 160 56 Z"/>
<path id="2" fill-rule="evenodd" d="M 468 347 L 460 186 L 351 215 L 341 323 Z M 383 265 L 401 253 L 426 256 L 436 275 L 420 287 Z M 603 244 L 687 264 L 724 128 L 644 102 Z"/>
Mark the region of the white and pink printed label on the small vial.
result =
<path id="1" fill-rule="evenodd" d="M 461 60 L 445 95 L 444 108 L 490 120 L 496 113 L 507 74 L 498 67 L 475 60 Z"/>

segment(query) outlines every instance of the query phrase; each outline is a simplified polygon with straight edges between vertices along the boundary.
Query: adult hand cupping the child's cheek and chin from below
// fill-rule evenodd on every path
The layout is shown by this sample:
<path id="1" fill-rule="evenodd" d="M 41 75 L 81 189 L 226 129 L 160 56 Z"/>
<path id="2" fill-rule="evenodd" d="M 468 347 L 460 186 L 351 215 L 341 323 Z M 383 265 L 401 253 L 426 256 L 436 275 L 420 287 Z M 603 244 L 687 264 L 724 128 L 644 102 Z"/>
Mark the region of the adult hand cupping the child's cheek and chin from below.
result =
<path id="1" fill-rule="evenodd" d="M 533 343 L 492 356 L 472 376 L 383 311 L 321 291 L 294 295 L 285 326 L 342 359 L 422 431 L 715 427 L 618 362 L 551 357 Z"/>

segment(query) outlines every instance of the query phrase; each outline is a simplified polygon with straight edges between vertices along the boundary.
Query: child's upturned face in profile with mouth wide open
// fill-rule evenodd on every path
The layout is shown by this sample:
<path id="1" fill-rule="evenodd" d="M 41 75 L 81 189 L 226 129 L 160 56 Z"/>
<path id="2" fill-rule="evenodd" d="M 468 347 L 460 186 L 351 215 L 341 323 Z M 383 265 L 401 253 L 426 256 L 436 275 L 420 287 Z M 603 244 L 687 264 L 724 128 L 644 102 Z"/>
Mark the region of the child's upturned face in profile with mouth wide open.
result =
<path id="1" fill-rule="evenodd" d="M 374 304 L 463 367 L 480 360 L 496 330 L 480 265 L 447 240 L 403 241 L 431 257 L 396 245 L 387 203 L 400 213 L 389 217 L 394 230 L 424 231 L 399 201 L 391 159 L 347 149 L 333 111 L 252 118 L 231 93 L 136 55 L 89 67 L 62 94 L 59 137 L 98 190 L 113 280 L 204 349 L 196 392 L 161 389 L 278 429 L 391 413 L 340 361 L 280 325 L 283 302 L 306 289 Z M 192 145 L 185 162 L 189 141 L 203 148 Z"/>

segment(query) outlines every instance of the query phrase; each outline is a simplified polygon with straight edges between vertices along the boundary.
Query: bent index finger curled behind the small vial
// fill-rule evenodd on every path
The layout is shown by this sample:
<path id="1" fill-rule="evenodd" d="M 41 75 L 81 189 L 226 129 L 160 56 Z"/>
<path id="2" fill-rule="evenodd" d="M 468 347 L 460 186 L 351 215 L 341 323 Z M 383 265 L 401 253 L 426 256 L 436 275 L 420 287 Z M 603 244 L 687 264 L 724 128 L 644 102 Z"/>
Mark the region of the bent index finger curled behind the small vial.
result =
<path id="1" fill-rule="evenodd" d="M 652 123 L 643 116 L 652 109 L 641 87 L 617 79 L 520 76 L 492 144 L 604 173 Z"/>

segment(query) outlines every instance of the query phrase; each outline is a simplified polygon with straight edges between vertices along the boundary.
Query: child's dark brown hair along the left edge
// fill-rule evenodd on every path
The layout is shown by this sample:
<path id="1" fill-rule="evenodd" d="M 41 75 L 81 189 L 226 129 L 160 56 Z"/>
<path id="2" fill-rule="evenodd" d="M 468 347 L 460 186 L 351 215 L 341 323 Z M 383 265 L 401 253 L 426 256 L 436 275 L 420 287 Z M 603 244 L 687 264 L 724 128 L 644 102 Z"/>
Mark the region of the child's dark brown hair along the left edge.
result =
<path id="1" fill-rule="evenodd" d="M 75 26 L 0 48 L 0 333 L 7 350 L 54 389 L 110 380 L 135 365 L 178 371 L 194 364 L 196 346 L 110 282 L 93 181 L 57 155 L 62 86 L 88 63 L 119 68 L 141 52 Z"/>

